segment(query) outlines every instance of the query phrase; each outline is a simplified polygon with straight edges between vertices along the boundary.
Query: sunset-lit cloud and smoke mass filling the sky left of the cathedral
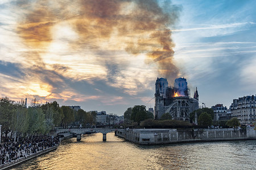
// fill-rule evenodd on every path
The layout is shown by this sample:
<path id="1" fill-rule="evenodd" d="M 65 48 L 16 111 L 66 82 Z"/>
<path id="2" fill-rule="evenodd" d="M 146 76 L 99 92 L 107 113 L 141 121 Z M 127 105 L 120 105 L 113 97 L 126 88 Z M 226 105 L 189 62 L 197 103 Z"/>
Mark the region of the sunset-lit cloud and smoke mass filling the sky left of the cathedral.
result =
<path id="1" fill-rule="evenodd" d="M 171 1 L 22 0 L 0 8 L 2 96 L 126 107 L 150 98 L 156 75 L 179 74 L 170 26 L 181 7 Z"/>

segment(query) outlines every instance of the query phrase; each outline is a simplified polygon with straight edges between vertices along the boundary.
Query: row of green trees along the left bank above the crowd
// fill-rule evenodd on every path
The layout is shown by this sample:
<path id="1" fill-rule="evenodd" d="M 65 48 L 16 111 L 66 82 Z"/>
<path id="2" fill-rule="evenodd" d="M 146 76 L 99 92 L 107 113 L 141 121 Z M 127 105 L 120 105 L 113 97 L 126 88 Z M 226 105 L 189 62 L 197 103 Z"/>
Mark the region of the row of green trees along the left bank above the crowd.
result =
<path id="1" fill-rule="evenodd" d="M 96 111 L 76 111 L 61 106 L 56 101 L 40 105 L 36 99 L 26 107 L 24 100 L 15 102 L 7 97 L 0 100 L 0 125 L 2 134 L 16 135 L 47 134 L 54 127 L 68 128 L 75 125 L 92 125 Z"/>

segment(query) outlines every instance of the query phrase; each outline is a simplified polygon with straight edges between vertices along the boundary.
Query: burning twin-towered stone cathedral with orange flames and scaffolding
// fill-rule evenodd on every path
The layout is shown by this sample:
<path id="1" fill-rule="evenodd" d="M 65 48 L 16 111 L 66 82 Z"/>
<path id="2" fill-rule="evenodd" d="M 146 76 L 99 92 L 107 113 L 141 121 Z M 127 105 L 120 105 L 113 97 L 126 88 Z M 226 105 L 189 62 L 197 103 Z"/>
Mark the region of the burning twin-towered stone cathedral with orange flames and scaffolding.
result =
<path id="1" fill-rule="evenodd" d="M 199 109 L 199 95 L 190 97 L 187 80 L 176 78 L 174 86 L 168 86 L 166 78 L 158 78 L 155 82 L 155 119 L 160 119 L 164 113 L 170 113 L 172 119 L 189 121 L 189 114 Z"/>

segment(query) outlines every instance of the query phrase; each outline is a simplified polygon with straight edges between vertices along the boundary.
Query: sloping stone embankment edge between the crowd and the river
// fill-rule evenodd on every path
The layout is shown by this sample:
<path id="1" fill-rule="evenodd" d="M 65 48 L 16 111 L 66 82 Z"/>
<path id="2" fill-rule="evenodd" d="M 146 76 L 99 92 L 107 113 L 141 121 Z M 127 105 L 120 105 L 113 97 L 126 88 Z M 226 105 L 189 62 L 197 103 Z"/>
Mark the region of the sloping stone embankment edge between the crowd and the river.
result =
<path id="1" fill-rule="evenodd" d="M 24 163 L 24 161 L 28 161 L 28 160 L 36 157 L 36 156 L 44 155 L 44 154 L 47 154 L 48 152 L 56 150 L 58 146 L 59 145 L 56 145 L 56 146 L 47 148 L 46 150 L 38 151 L 35 154 L 31 154 L 31 155 L 28 155 L 26 157 L 21 157 L 21 158 L 19 158 L 17 160 L 9 162 L 9 163 L 2 164 L 2 165 L 0 165 L 0 169 L 1 170 L 3 170 L 3 169 L 10 169 L 10 168 L 15 167 L 16 165 L 22 164 L 22 163 Z"/>

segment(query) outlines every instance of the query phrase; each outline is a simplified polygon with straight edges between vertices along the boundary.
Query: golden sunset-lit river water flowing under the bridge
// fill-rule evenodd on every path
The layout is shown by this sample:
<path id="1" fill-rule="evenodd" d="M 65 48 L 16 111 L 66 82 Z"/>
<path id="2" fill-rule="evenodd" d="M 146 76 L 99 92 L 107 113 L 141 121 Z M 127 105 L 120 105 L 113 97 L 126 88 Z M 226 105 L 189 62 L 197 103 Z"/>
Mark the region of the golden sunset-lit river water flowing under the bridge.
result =
<path id="1" fill-rule="evenodd" d="M 140 146 L 91 134 L 14 169 L 256 169 L 256 140 Z"/>

